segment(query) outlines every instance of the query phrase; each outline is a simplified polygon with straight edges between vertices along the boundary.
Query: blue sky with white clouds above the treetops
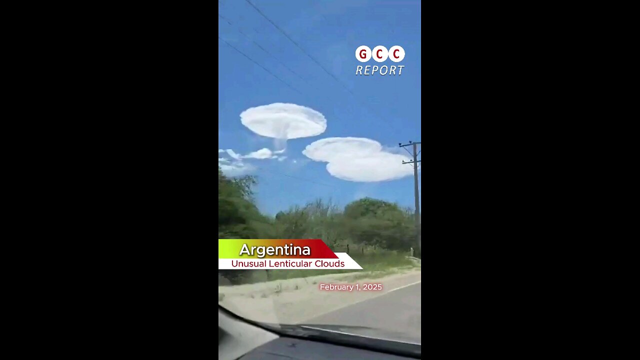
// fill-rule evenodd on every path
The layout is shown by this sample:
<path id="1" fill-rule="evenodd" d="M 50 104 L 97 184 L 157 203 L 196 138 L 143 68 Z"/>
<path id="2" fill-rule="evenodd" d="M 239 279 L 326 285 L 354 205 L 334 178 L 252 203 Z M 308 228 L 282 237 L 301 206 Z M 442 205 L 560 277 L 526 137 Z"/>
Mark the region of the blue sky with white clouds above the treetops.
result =
<path id="1" fill-rule="evenodd" d="M 420 2 L 250 2 L 293 42 L 248 1 L 218 2 L 225 173 L 257 176 L 257 204 L 271 215 L 317 198 L 344 206 L 374 197 L 413 208 L 412 165 L 401 164 L 409 154 L 398 143 L 421 140 Z M 405 57 L 360 63 L 360 45 L 399 45 Z M 358 65 L 404 68 L 400 76 L 356 76 Z M 292 105 L 268 106 L 278 103 Z"/>

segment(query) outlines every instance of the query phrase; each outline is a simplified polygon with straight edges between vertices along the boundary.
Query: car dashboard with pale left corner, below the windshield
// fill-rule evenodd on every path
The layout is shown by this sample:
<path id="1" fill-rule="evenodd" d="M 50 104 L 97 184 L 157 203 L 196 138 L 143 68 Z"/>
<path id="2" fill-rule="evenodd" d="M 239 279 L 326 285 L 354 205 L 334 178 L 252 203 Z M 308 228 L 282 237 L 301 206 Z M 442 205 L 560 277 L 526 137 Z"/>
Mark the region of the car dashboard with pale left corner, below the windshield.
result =
<path id="1" fill-rule="evenodd" d="M 420 345 L 339 333 L 337 341 L 321 341 L 324 329 L 309 327 L 293 335 L 269 331 L 218 307 L 218 358 L 223 360 L 404 360 L 419 359 Z M 335 334 L 334 334 L 335 335 Z M 306 337 L 306 338 L 305 338 Z M 336 343 L 337 342 L 337 343 Z M 388 342 L 385 347 L 381 344 Z M 351 346 L 353 345 L 353 346 Z M 394 348 L 395 347 L 395 348 Z M 385 352 L 371 350 L 384 348 Z"/>

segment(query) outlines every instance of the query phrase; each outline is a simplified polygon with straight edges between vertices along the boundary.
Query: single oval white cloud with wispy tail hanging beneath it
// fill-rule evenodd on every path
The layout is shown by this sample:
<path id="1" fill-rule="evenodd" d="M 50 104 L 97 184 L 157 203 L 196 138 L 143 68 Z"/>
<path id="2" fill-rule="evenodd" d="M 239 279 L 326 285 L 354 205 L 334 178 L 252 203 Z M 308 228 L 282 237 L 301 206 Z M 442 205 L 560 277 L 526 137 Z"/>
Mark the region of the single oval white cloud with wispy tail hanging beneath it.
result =
<path id="1" fill-rule="evenodd" d="M 326 119 L 316 110 L 296 104 L 275 104 L 248 108 L 240 114 L 244 126 L 254 133 L 275 139 L 277 149 L 286 141 L 324 133 Z"/>

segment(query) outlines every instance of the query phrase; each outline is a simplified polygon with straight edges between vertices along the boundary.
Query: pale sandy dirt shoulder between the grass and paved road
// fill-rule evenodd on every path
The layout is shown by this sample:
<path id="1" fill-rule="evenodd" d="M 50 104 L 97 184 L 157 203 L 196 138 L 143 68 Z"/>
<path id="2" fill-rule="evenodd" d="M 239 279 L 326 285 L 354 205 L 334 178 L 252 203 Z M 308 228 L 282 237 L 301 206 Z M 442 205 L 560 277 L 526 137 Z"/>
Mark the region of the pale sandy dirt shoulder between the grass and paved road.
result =
<path id="1" fill-rule="evenodd" d="M 258 284 L 218 286 L 218 304 L 245 318 L 269 323 L 304 323 L 325 313 L 372 299 L 421 281 L 420 267 L 387 272 L 328 274 Z M 321 284 L 354 285 L 352 291 L 321 290 Z M 364 291 L 364 284 L 382 284 L 382 290 Z"/>

